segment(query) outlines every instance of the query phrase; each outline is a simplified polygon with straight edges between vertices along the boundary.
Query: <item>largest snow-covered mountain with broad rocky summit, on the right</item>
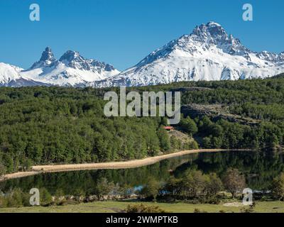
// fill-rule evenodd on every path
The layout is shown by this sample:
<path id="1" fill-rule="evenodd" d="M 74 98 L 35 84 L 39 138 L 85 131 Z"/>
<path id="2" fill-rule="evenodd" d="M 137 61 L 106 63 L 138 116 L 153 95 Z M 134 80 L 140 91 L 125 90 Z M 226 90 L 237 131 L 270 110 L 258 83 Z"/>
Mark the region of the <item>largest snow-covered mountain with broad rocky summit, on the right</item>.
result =
<path id="1" fill-rule="evenodd" d="M 180 81 L 272 77 L 284 72 L 284 52 L 253 52 L 218 23 L 197 26 L 129 70 L 90 83 L 94 87 L 143 86 Z"/>

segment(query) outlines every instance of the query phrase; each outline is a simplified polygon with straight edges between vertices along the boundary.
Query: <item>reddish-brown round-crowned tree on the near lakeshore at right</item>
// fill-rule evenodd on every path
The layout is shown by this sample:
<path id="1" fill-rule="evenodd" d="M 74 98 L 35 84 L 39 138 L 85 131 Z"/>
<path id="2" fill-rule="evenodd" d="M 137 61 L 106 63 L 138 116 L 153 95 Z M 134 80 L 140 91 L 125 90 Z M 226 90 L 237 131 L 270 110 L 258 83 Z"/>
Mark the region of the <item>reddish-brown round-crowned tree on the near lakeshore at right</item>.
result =
<path id="1" fill-rule="evenodd" d="M 223 184 L 226 190 L 231 192 L 233 198 L 237 192 L 242 192 L 246 187 L 246 179 L 244 175 L 241 175 L 239 170 L 229 169 L 223 179 Z"/>

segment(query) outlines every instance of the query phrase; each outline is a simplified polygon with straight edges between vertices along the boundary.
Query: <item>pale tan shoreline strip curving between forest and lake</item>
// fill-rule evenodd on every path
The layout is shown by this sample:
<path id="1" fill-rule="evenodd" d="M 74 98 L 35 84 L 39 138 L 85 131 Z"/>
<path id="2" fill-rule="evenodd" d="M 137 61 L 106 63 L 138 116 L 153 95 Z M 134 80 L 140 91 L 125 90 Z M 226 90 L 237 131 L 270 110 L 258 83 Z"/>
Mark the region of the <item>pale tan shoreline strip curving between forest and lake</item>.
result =
<path id="1" fill-rule="evenodd" d="M 141 160 L 129 160 L 120 162 L 96 162 L 96 163 L 85 163 L 85 164 L 66 164 L 66 165 L 35 165 L 31 167 L 29 172 L 15 172 L 9 175 L 4 175 L 5 181 L 8 179 L 16 179 L 21 177 L 29 177 L 47 172 L 67 172 L 67 171 L 80 171 L 80 170 L 116 170 L 116 169 L 131 169 L 136 167 L 143 167 L 147 165 L 153 165 L 162 160 L 166 160 L 172 157 L 180 157 L 183 155 L 198 154 L 198 153 L 217 153 L 224 151 L 236 151 L 226 149 L 197 149 L 197 150 L 182 150 L 176 153 L 169 153 L 166 155 L 158 155 L 155 157 L 146 157 Z M 241 149 L 240 151 L 246 151 Z"/>

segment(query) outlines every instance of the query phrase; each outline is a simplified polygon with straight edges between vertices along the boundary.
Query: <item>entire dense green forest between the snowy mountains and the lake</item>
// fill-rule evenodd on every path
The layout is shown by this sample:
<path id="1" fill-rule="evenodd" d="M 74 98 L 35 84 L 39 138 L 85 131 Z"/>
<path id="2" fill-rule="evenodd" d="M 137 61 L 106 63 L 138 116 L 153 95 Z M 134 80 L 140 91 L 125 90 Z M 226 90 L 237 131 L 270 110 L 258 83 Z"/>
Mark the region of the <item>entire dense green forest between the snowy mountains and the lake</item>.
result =
<path id="1" fill-rule="evenodd" d="M 206 89 L 180 89 L 202 87 Z M 176 127 L 202 148 L 280 149 L 284 135 L 284 79 L 180 82 L 136 91 L 182 91 L 182 104 L 222 104 L 253 125 L 183 118 Z M 129 90 L 131 90 L 129 89 Z M 70 87 L 0 88 L 0 174 L 48 163 L 129 160 L 159 152 L 197 148 L 182 145 L 163 129 L 160 117 L 104 116 L 110 89 Z M 117 88 L 112 90 L 118 91 Z"/>

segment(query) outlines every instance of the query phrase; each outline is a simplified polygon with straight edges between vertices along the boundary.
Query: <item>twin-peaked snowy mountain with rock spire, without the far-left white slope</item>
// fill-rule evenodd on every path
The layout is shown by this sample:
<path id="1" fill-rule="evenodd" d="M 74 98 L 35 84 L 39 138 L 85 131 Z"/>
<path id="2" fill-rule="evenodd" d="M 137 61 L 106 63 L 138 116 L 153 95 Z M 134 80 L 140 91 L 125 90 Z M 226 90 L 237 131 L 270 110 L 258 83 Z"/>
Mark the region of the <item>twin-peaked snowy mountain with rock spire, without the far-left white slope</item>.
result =
<path id="1" fill-rule="evenodd" d="M 40 60 L 22 71 L 21 77 L 45 84 L 59 86 L 85 86 L 89 82 L 106 79 L 118 74 L 112 65 L 87 60 L 79 52 L 68 50 L 56 60 L 50 48 L 46 48 Z"/>

